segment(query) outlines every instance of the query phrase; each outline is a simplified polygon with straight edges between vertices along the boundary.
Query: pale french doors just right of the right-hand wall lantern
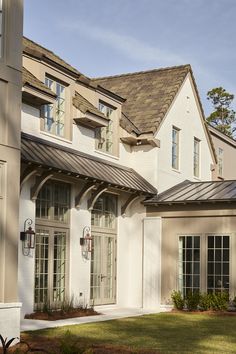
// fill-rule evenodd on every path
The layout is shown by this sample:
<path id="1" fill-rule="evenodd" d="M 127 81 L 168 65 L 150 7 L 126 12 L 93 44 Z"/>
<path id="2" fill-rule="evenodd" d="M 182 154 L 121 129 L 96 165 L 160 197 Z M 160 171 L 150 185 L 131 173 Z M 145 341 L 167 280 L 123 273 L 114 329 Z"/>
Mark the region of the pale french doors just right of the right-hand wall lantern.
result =
<path id="1" fill-rule="evenodd" d="M 116 299 L 116 235 L 92 234 L 91 301 L 94 305 L 115 303 Z"/>

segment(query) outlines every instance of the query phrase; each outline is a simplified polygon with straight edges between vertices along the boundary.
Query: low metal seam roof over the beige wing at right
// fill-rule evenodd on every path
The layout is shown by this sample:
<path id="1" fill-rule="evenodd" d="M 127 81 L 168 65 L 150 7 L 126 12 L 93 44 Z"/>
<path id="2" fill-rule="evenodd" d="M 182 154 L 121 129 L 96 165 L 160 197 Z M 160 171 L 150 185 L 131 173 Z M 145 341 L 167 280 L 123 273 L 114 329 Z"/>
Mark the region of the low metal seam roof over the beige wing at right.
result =
<path id="1" fill-rule="evenodd" d="M 148 199 L 145 205 L 236 201 L 236 180 L 190 182 L 184 181 Z"/>

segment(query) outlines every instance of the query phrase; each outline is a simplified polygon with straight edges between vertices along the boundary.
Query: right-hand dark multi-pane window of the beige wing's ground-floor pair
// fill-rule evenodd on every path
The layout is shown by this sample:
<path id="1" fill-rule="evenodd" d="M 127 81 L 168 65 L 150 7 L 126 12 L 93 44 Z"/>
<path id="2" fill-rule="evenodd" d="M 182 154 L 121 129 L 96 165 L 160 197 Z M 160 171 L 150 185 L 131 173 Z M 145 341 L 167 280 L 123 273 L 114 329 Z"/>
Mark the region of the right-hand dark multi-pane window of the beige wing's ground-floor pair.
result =
<path id="1" fill-rule="evenodd" d="M 207 292 L 229 291 L 229 236 L 208 236 Z"/>

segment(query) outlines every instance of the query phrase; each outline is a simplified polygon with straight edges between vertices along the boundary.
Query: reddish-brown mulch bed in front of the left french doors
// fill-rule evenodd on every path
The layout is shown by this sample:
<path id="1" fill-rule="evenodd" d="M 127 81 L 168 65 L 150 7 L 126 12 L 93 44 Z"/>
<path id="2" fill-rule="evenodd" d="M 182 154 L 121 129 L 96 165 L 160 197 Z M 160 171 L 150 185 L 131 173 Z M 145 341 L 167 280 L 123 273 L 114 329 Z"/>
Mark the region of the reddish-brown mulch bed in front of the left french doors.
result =
<path id="1" fill-rule="evenodd" d="M 100 315 L 100 313 L 93 309 L 73 309 L 66 312 L 63 310 L 50 311 L 50 312 L 35 311 L 31 314 L 25 315 L 25 318 L 32 319 L 32 320 L 57 321 L 57 320 L 64 320 L 67 318 L 95 316 L 95 315 Z"/>

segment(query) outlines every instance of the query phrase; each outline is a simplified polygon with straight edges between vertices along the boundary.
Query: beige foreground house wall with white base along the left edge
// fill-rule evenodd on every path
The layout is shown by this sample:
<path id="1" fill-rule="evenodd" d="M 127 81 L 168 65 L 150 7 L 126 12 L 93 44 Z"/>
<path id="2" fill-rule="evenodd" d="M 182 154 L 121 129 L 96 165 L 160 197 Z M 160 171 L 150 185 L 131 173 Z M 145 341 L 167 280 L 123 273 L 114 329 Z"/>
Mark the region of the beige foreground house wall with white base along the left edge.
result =
<path id="1" fill-rule="evenodd" d="M 19 336 L 17 288 L 23 11 L 0 2 L 0 334 Z"/>

